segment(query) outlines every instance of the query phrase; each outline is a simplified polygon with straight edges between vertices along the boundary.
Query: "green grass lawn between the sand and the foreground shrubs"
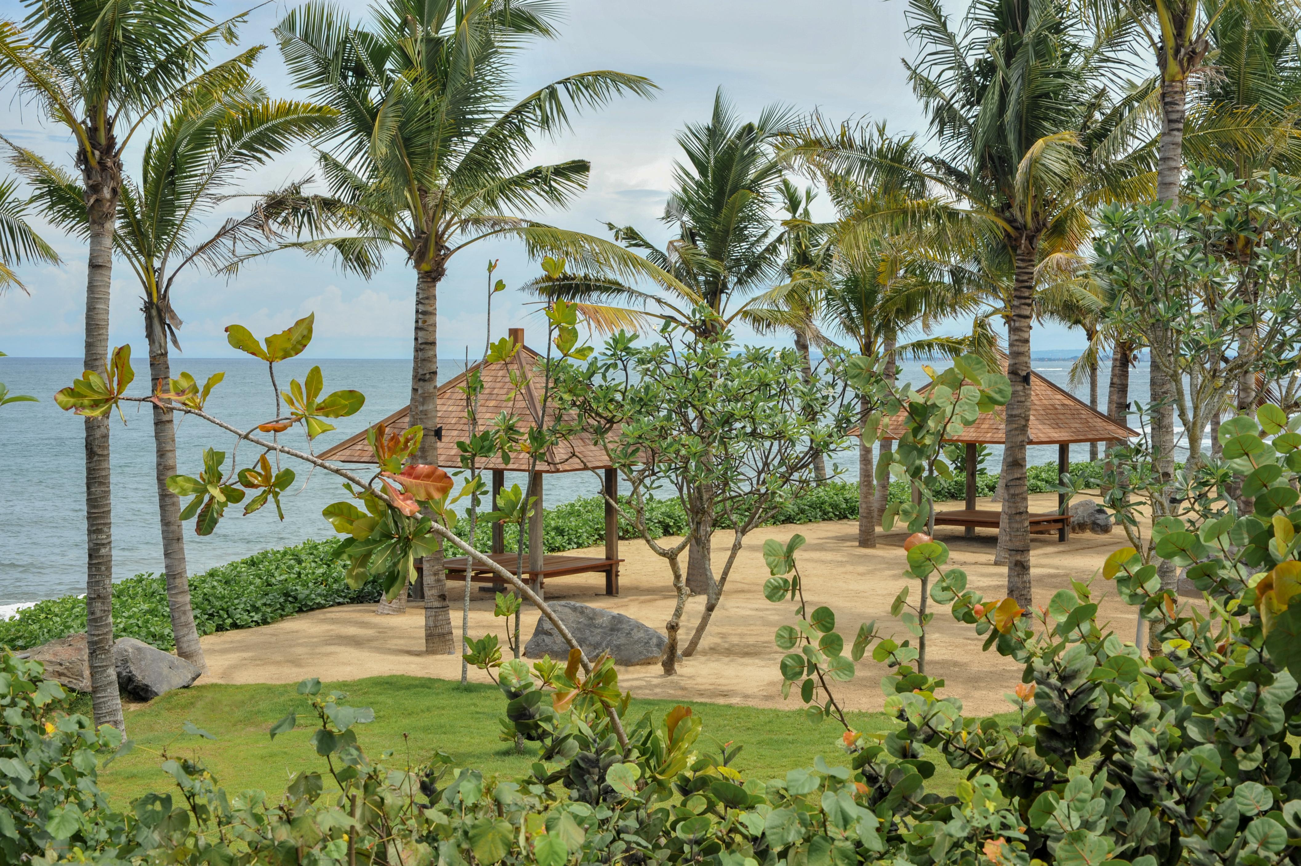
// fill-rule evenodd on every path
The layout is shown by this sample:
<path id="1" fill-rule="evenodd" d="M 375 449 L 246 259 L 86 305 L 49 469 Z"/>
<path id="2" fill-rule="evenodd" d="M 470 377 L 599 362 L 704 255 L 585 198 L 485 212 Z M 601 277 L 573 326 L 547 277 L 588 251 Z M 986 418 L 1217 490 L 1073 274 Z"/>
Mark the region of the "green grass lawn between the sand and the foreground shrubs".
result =
<path id="1" fill-rule="evenodd" d="M 531 744 L 524 755 L 516 755 L 511 744 L 498 740 L 497 719 L 506 702 L 496 688 L 410 676 L 325 684 L 324 690 L 332 688 L 346 691 L 347 703 L 375 710 L 375 721 L 358 727 L 358 740 L 372 761 L 401 767 L 407 754 L 416 763 L 442 749 L 457 766 L 518 776 L 535 759 Z M 662 715 L 673 706 L 670 701 L 634 699 L 630 723 L 648 711 Z M 721 742 L 744 744 L 734 766 L 747 777 L 785 776 L 795 767 L 812 767 L 820 754 L 831 766 L 848 763 L 848 755 L 839 749 L 840 727 L 831 721 L 813 725 L 795 710 L 717 703 L 693 703 L 692 708 L 704 720 L 697 749 L 717 751 Z M 272 741 L 268 729 L 290 710 L 299 714 L 298 728 Z M 117 807 L 143 793 L 168 790 L 170 776 L 160 770 L 160 753 L 167 749 L 176 757 L 200 757 L 228 790 L 258 788 L 278 798 L 294 772 L 325 771 L 324 759 L 308 742 L 315 716 L 308 718 L 307 711 L 306 698 L 293 685 L 203 685 L 172 691 L 127 711 L 135 750 L 101 770 L 100 784 Z M 217 738 L 181 733 L 187 720 Z M 879 712 L 855 714 L 852 724 L 860 731 L 899 727 Z M 385 750 L 396 754 L 385 761 Z M 937 772 L 928 788 L 951 790 L 959 774 L 938 755 L 930 755 L 930 761 Z"/>

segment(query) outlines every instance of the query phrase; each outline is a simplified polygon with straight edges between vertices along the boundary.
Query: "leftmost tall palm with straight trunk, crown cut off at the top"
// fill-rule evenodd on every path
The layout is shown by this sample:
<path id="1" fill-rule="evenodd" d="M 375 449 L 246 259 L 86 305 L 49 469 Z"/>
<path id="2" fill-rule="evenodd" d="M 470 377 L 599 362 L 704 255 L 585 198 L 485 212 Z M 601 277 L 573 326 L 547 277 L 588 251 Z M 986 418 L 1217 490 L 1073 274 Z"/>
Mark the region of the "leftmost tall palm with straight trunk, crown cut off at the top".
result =
<path id="1" fill-rule="evenodd" d="M 195 0 L 30 0 L 22 23 L 0 22 L 0 79 L 17 81 L 77 141 L 86 190 L 85 369 L 104 375 L 113 225 L 122 152 L 164 105 L 202 82 L 245 69 L 255 52 L 204 68 L 212 44 L 242 17 L 220 23 Z M 108 415 L 86 418 L 86 633 L 98 724 L 125 729 L 113 660 L 113 527 Z"/>

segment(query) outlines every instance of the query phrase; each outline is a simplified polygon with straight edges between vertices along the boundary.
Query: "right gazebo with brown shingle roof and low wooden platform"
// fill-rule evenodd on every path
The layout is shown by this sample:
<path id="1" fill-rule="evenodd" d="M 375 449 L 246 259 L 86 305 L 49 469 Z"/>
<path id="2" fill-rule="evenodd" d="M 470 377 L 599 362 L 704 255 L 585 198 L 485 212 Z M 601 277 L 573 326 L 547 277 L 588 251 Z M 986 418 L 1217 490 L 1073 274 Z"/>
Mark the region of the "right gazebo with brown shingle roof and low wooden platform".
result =
<path id="1" fill-rule="evenodd" d="M 1007 372 L 1007 357 L 1000 356 L 1000 367 Z M 1058 477 L 1069 471 L 1071 445 L 1085 441 L 1116 441 L 1137 436 L 1129 427 L 1116 423 L 1068 391 L 1059 388 L 1037 372 L 1030 372 L 1030 445 L 1058 447 Z M 930 385 L 919 388 L 926 391 Z M 907 428 L 904 413 L 890 419 L 890 431 L 882 439 L 899 439 Z M 976 447 L 1002 445 L 1007 428 L 998 413 L 985 413 L 976 423 L 946 441 L 967 445 L 967 503 L 961 510 L 935 512 L 937 526 L 963 526 L 967 538 L 974 538 L 976 529 L 998 529 L 1002 512 L 976 508 Z M 1071 537 L 1071 516 L 1066 513 L 1066 495 L 1058 494 L 1058 510 L 1049 514 L 1030 514 L 1030 531 L 1049 534 L 1056 531 L 1058 540 Z"/>

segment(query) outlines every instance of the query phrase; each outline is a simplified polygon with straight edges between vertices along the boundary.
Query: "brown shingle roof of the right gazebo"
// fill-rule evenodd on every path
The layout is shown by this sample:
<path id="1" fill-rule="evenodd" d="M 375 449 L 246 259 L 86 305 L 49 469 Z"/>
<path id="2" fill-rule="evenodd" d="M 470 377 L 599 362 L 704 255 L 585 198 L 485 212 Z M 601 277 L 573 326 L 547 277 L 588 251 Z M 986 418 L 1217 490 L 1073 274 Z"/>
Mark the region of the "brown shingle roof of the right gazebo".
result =
<path id="1" fill-rule="evenodd" d="M 1007 357 L 1000 358 L 1007 372 Z M 930 385 L 919 388 L 925 391 Z M 1007 406 L 981 414 L 971 427 L 946 441 L 1002 445 L 1007 428 L 1003 413 Z M 882 439 L 899 439 L 907 430 L 899 413 L 890 419 L 890 432 Z M 1032 445 L 1062 445 L 1075 441 L 1114 441 L 1137 436 L 1137 431 L 1119 425 L 1068 391 L 1059 388 L 1037 372 L 1030 372 L 1030 441 Z"/>

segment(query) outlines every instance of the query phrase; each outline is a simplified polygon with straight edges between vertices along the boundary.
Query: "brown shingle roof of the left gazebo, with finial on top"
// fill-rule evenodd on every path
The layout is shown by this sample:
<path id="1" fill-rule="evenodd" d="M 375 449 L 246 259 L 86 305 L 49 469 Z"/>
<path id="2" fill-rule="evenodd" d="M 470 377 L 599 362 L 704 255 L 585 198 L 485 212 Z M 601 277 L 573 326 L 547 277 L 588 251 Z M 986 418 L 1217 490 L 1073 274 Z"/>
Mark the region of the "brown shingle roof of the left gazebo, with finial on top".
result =
<path id="1" fill-rule="evenodd" d="M 471 365 L 464 372 L 438 385 L 438 426 L 442 427 L 442 439 L 438 441 L 440 466 L 461 466 L 461 449 L 457 448 L 457 441 L 470 439 L 466 396 L 459 388 L 464 385 L 466 376 L 471 370 L 480 370 L 484 384 L 483 392 L 479 395 L 477 428 L 480 432 L 503 412 L 519 419 L 522 432 L 537 425 L 543 405 L 545 358 L 523 345 L 522 331 L 513 329 L 511 337 L 515 337 L 520 348 L 510 361 Z M 527 384 L 516 388 L 510 380 L 511 371 L 515 372 L 518 382 Z M 382 421 L 389 432 L 402 432 L 407 428 L 410 410 L 410 405 L 405 406 Z M 548 408 L 546 414 L 548 425 L 554 423 L 554 410 Z M 432 431 L 427 430 L 425 436 L 431 435 L 433 435 Z M 320 457 L 342 464 L 375 464 L 375 454 L 371 453 L 371 447 L 366 441 L 364 430 L 325 449 Z M 528 461 L 530 456 L 519 452 L 511 454 L 510 464 L 502 462 L 500 457 L 493 457 L 479 464 L 479 468 L 528 471 Z M 609 468 L 610 461 L 605 456 L 605 451 L 587 436 L 561 440 L 550 449 L 545 460 L 537 461 L 537 471 L 540 473 L 570 473 Z"/>

